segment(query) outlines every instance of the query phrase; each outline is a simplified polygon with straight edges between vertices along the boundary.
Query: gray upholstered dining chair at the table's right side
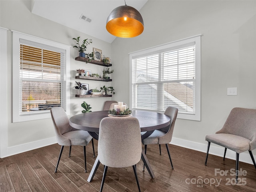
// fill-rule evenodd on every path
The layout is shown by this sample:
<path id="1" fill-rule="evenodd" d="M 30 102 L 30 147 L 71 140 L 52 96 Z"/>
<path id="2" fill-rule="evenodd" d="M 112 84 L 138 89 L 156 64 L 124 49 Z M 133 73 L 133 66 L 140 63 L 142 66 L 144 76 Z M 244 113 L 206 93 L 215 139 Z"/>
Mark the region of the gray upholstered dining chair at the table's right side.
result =
<path id="1" fill-rule="evenodd" d="M 148 136 L 147 138 L 142 140 L 142 144 L 144 144 L 145 146 L 145 154 L 147 152 L 147 145 L 148 144 L 159 144 L 159 150 L 160 150 L 160 154 L 161 154 L 161 144 L 165 144 L 167 152 L 168 152 L 168 156 L 171 162 L 171 166 L 173 169 L 173 165 L 172 165 L 172 158 L 170 155 L 170 151 L 169 151 L 169 147 L 168 147 L 168 143 L 171 142 L 172 140 L 172 133 L 174 130 L 174 125 L 175 125 L 175 121 L 177 118 L 177 114 L 178 114 L 178 108 L 175 107 L 167 107 L 165 112 L 165 115 L 167 115 L 168 117 L 170 117 L 170 125 L 162 128 L 160 130 L 154 130 L 154 132 Z M 141 134 L 144 134 L 145 132 L 142 132 Z M 145 166 L 143 167 L 144 170 Z"/>

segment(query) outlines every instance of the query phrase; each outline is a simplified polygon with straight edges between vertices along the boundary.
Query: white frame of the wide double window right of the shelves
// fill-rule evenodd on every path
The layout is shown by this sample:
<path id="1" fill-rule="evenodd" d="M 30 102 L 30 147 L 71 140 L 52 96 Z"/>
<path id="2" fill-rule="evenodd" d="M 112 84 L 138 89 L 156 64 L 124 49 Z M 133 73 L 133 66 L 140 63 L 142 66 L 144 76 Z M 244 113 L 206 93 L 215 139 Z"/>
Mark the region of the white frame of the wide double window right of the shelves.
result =
<path id="1" fill-rule="evenodd" d="M 201 120 L 201 34 L 184 38 L 182 40 L 177 40 L 174 42 L 169 42 L 166 44 L 162 44 L 159 46 L 154 46 L 151 48 L 147 48 L 144 50 L 132 52 L 129 54 L 130 58 L 130 104 L 133 106 L 132 103 L 132 59 L 134 58 L 140 58 L 143 56 L 148 56 L 152 55 L 155 53 L 158 53 L 160 51 L 164 52 L 165 50 L 171 50 L 174 47 L 179 47 L 184 44 L 190 44 L 190 43 L 195 43 L 195 114 L 181 114 L 178 113 L 177 118 L 180 119 L 186 119 L 186 120 L 196 120 L 200 121 Z M 132 110 L 136 110 L 132 108 Z M 145 109 L 145 111 L 147 111 Z M 148 110 L 152 111 L 152 110 Z M 153 110 L 156 112 L 161 112 L 163 113 L 164 111 L 159 111 L 159 110 Z"/>

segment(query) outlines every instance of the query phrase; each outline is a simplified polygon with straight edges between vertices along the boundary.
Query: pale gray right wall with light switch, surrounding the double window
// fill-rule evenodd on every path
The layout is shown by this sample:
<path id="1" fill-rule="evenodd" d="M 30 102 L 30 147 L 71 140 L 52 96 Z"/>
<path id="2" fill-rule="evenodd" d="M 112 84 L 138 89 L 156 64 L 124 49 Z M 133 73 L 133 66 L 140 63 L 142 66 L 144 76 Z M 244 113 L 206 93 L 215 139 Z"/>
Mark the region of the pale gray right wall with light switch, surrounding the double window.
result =
<path id="1" fill-rule="evenodd" d="M 122 81 L 112 82 L 113 99 L 129 105 L 128 53 L 202 34 L 201 121 L 176 120 L 171 143 L 206 151 L 205 135 L 222 128 L 232 108 L 256 108 L 256 1 L 149 0 L 140 13 L 144 32 L 112 43 L 113 79 Z M 228 87 L 237 96 L 227 96 Z M 212 144 L 210 153 L 222 156 L 224 148 Z M 240 159 L 252 163 L 248 153 Z"/>

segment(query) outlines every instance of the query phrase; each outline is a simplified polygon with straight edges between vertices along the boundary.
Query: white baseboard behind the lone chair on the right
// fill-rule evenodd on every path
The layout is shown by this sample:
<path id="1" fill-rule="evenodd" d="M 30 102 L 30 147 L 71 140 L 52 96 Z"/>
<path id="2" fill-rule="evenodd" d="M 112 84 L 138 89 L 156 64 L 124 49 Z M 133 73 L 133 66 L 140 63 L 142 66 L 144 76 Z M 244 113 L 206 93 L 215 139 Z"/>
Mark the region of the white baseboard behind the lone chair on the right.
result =
<path id="1" fill-rule="evenodd" d="M 196 150 L 196 151 L 200 151 L 200 152 L 204 152 L 204 153 L 206 153 L 207 146 L 208 146 L 207 141 L 206 141 L 205 144 L 202 144 L 202 143 L 192 142 L 192 141 L 183 140 L 183 139 L 174 138 L 174 137 L 172 138 L 172 141 L 170 142 L 170 144 L 177 145 L 177 146 L 184 147 L 184 148 L 188 148 L 188 149 L 192 149 L 192 150 Z M 218 147 L 218 146 L 215 146 L 214 144 L 211 144 L 209 154 L 223 157 L 224 156 L 224 150 L 225 150 L 224 147 L 221 147 L 221 146 Z M 236 152 L 234 152 L 232 150 L 227 150 L 225 158 L 236 160 Z M 254 159 L 256 160 L 256 155 L 254 155 Z M 250 154 L 245 153 L 245 152 L 240 153 L 239 161 L 240 162 L 245 162 L 245 163 L 248 163 L 248 164 L 253 164 Z"/>

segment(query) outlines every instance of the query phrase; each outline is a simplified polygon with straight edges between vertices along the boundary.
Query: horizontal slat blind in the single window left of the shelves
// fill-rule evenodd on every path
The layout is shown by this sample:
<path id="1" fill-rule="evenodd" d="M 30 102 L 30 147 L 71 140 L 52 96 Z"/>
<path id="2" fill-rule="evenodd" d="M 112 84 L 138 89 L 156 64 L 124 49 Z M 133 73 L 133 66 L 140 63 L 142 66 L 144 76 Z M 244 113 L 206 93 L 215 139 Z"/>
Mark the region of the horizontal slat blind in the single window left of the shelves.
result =
<path id="1" fill-rule="evenodd" d="M 65 109 L 65 63 L 65 52 L 20 43 L 20 115 Z"/>

